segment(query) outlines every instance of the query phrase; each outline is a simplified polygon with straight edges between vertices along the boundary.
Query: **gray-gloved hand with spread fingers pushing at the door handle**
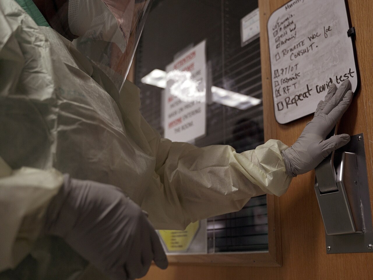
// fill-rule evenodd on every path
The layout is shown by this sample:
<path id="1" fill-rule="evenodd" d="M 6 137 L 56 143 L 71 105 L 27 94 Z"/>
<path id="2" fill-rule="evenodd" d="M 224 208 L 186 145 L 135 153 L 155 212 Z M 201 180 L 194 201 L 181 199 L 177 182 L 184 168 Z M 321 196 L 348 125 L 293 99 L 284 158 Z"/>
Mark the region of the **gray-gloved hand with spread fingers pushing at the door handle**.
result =
<path id="1" fill-rule="evenodd" d="M 332 151 L 344 146 L 350 141 L 348 134 L 326 136 L 341 119 L 352 101 L 350 81 L 344 81 L 337 89 L 330 85 L 324 101 L 317 105 L 311 122 L 307 123 L 297 142 L 281 152 L 285 161 L 286 173 L 295 177 L 298 174 L 313 170 Z"/>

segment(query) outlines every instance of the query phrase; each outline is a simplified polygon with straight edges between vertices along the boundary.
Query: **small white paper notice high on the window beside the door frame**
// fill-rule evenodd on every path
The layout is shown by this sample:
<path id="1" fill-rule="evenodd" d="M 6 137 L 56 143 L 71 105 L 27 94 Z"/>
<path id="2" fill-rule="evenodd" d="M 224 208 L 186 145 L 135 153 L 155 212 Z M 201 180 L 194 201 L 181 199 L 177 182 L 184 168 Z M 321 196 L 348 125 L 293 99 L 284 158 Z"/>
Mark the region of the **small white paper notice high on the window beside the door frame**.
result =
<path id="1" fill-rule="evenodd" d="M 241 47 L 259 37 L 259 8 L 241 19 Z"/>

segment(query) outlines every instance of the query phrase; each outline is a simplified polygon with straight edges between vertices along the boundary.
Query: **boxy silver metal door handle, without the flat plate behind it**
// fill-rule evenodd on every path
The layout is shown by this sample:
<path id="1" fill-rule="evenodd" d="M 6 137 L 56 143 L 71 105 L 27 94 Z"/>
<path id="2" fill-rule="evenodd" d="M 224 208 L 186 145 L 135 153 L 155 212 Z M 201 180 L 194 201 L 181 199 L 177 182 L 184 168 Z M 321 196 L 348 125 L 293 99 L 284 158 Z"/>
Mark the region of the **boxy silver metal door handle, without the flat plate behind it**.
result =
<path id="1" fill-rule="evenodd" d="M 356 155 L 333 153 L 315 171 L 315 191 L 326 234 L 361 233 L 363 220 Z"/>

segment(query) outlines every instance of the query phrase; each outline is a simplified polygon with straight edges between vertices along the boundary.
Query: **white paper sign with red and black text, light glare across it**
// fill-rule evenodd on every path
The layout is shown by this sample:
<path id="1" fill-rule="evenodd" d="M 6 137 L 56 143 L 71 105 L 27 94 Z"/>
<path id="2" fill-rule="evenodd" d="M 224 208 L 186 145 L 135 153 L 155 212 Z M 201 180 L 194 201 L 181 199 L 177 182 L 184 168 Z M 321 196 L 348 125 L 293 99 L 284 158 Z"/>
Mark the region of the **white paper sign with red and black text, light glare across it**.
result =
<path id="1" fill-rule="evenodd" d="M 164 137 L 177 142 L 190 142 L 205 135 L 206 41 L 167 65 L 166 72 Z"/>

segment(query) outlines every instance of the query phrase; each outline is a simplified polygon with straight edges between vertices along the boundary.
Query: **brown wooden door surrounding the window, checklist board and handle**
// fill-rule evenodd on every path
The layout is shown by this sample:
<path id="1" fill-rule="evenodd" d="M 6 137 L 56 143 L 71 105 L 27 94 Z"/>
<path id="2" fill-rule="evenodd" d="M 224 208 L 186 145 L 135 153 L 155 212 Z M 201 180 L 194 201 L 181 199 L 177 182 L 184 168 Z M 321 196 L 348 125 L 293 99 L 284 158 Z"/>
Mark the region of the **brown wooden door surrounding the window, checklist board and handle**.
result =
<path id="1" fill-rule="evenodd" d="M 310 0 L 308 0 L 310 1 Z M 325 0 L 327 1 L 327 0 Z M 265 138 L 296 141 L 311 117 L 279 125 L 274 117 L 267 20 L 287 0 L 259 0 L 261 63 Z M 357 31 L 356 50 L 361 86 L 342 119 L 339 133 L 364 133 L 370 199 L 373 205 L 373 1 L 348 0 L 352 26 Z M 282 267 L 170 265 L 152 267 L 146 280 L 331 280 L 373 279 L 373 254 L 330 254 L 325 251 L 325 231 L 314 188 L 314 172 L 298 176 L 285 195 L 276 198 L 281 220 Z"/>

